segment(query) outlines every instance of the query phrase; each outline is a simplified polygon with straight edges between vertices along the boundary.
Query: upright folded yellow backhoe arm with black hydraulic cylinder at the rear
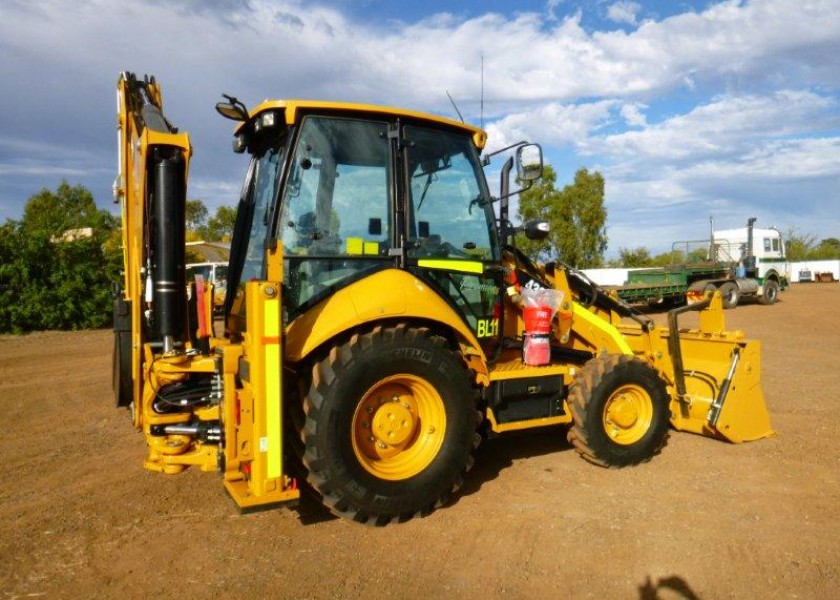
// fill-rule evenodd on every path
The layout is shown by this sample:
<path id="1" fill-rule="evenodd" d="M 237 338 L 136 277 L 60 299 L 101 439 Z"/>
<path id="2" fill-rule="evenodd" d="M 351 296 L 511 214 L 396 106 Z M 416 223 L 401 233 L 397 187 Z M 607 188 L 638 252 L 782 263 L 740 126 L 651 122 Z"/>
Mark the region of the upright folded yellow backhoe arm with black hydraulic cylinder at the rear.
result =
<path id="1" fill-rule="evenodd" d="M 124 385 L 133 382 L 133 392 L 126 389 L 126 397 L 118 400 L 128 404 L 140 398 L 143 343 L 159 342 L 167 353 L 184 341 L 185 206 L 192 149 L 189 136 L 178 133 L 164 116 L 154 78 L 121 73 L 117 111 L 114 202 L 122 213 L 124 281 L 115 302 L 115 330 L 126 335 L 117 342 L 125 366 L 115 376 Z"/>

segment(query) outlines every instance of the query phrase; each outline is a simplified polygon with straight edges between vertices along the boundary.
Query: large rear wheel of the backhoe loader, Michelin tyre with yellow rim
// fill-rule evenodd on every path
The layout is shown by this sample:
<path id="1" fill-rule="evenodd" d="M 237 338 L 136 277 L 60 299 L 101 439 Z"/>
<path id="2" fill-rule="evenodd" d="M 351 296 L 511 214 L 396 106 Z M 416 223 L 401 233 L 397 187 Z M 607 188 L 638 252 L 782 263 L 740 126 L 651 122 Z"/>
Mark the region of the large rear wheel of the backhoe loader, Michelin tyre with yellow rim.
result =
<path id="1" fill-rule="evenodd" d="M 479 439 L 476 394 L 442 337 L 377 327 L 312 374 L 303 463 L 333 512 L 386 525 L 432 512 L 461 486 Z"/>

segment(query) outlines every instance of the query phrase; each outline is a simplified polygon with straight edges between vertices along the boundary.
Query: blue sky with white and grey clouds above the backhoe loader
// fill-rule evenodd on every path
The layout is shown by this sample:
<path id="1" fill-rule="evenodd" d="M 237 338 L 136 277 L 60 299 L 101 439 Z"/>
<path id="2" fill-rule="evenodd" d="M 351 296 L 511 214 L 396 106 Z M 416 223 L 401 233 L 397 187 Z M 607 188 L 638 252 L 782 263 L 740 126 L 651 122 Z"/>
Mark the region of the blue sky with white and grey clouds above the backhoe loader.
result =
<path id="1" fill-rule="evenodd" d="M 840 237 L 840 0 L 0 0 L 0 56 L 0 220 L 63 179 L 114 209 L 128 70 L 162 83 L 211 211 L 245 169 L 222 92 L 455 117 L 448 91 L 488 149 L 604 175 L 608 256 L 710 216 Z"/>

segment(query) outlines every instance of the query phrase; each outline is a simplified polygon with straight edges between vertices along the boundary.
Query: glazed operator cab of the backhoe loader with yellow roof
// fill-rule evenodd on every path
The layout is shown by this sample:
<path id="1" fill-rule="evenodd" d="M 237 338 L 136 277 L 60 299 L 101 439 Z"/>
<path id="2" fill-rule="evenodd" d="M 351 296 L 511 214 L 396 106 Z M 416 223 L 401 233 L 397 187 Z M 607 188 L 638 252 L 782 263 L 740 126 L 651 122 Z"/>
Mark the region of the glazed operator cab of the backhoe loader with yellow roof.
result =
<path id="1" fill-rule="evenodd" d="M 232 280 L 241 289 L 264 279 L 266 243 L 282 247 L 283 308 L 293 322 L 336 292 L 399 269 L 432 286 L 476 336 L 493 337 L 499 277 L 485 267 L 500 264 L 501 248 L 479 158 L 484 139 L 405 111 L 264 104 L 237 135 L 253 158 Z M 529 160 L 521 170 L 541 165 Z M 235 331 L 245 305 L 233 301 Z"/>

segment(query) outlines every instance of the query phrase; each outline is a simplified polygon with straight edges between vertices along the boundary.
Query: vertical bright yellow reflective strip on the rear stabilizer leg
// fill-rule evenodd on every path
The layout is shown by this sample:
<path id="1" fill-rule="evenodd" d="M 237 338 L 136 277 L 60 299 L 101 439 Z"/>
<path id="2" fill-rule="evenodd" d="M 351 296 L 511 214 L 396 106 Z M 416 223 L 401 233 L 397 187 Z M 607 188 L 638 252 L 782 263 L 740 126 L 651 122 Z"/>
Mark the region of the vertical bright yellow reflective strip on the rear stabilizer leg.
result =
<path id="1" fill-rule="evenodd" d="M 280 340 L 280 301 L 265 301 L 264 338 Z M 265 435 L 268 441 L 266 477 L 272 479 L 283 474 L 280 464 L 282 439 L 280 437 L 280 344 L 264 347 L 265 356 Z"/>

